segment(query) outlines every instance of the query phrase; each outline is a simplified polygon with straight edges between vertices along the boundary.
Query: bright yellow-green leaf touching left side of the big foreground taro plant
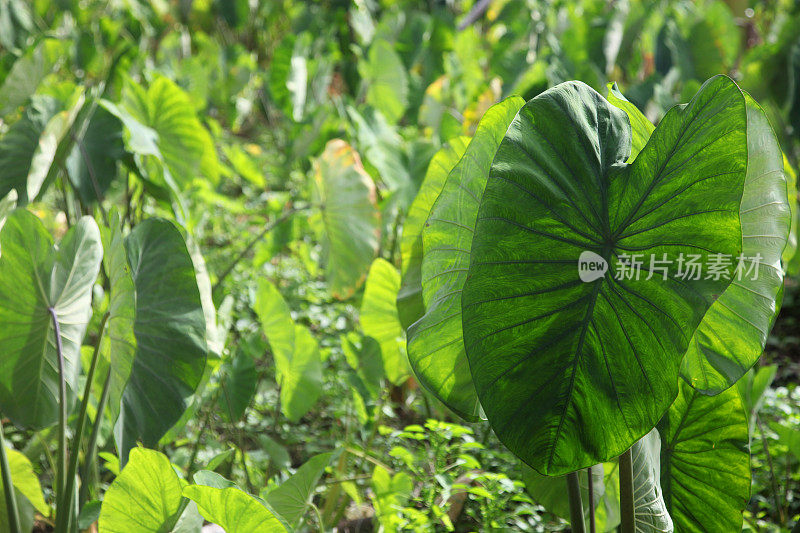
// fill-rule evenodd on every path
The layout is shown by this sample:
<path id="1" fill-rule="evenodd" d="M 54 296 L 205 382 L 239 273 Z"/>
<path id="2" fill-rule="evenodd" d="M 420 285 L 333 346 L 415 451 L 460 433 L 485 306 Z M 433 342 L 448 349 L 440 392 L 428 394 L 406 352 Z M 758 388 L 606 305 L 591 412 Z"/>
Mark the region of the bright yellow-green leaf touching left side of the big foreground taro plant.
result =
<path id="1" fill-rule="evenodd" d="M 410 374 L 405 350 L 405 332 L 397 316 L 400 274 L 391 263 L 378 258 L 372 262 L 361 300 L 361 327 L 381 345 L 383 370 L 395 385 Z"/>

